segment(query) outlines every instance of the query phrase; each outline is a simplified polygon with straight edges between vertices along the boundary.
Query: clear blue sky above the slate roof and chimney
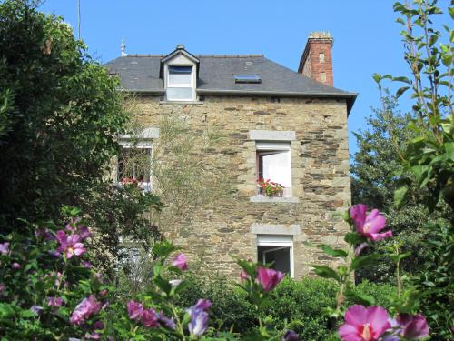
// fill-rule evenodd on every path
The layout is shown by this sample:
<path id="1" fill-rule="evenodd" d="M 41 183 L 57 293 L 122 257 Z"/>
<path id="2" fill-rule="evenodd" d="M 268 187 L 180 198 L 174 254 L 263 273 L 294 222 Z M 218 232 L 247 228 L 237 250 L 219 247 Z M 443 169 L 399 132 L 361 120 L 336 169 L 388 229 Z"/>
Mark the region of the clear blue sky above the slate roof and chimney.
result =
<path id="1" fill-rule="evenodd" d="M 360 94 L 350 153 L 351 132 L 366 128 L 370 105 L 379 105 L 371 75 L 408 75 L 394 0 L 80 1 L 82 38 L 101 62 L 120 55 L 124 35 L 130 54 L 167 54 L 181 43 L 193 54 L 264 54 L 296 70 L 311 31 L 331 32 L 334 85 Z M 46 0 L 40 10 L 63 15 L 77 35 L 77 0 Z"/>

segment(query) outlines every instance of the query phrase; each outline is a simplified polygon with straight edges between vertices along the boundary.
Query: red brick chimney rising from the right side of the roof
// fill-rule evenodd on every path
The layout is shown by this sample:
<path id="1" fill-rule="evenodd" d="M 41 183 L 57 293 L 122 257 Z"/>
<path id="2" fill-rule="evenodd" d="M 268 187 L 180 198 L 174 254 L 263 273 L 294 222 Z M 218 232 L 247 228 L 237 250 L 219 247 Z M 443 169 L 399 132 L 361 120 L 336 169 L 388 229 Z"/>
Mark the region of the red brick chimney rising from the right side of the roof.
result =
<path id="1" fill-rule="evenodd" d="M 302 52 L 298 72 L 314 81 L 333 86 L 332 42 L 333 39 L 330 33 L 312 32 Z"/>

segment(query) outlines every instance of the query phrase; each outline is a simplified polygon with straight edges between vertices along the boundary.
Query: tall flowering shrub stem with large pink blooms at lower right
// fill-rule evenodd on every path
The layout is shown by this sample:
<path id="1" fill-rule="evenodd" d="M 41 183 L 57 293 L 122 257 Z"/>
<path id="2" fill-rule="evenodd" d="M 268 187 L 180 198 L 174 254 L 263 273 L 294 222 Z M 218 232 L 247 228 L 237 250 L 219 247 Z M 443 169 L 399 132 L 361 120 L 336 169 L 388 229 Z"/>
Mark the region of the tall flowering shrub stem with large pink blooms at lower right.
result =
<path id="1" fill-rule="evenodd" d="M 368 215 L 367 206 L 363 204 L 351 206 L 345 220 L 351 226 L 351 232 L 345 236 L 345 242 L 350 246 L 349 251 L 333 249 L 326 245 L 317 247 L 320 247 L 330 256 L 342 258 L 346 265 L 338 266 L 337 269 L 329 266 L 313 266 L 319 276 L 332 278 L 340 284 L 337 306 L 335 309 L 328 308 L 331 316 L 338 317 L 343 314 L 346 297 L 370 306 L 354 305 L 348 307 L 344 316 L 345 323 L 339 329 L 341 339 L 343 341 L 399 341 L 419 340 L 428 336 L 429 326 L 425 317 L 414 314 L 418 307 L 418 293 L 412 289 L 405 293 L 402 292 L 403 285 L 402 277 L 399 275 L 399 262 L 409 255 L 400 255 L 399 252 L 390 255 L 390 258 L 396 262 L 398 269 L 396 275 L 398 292 L 393 297 L 395 304 L 392 307 L 397 312 L 395 319 L 391 318 L 382 306 L 373 306 L 375 304 L 373 297 L 354 293 L 350 283 L 353 271 L 380 262 L 380 255 L 360 256 L 361 251 L 370 243 L 392 236 L 392 232 L 380 233 L 386 227 L 386 218 L 376 209 L 373 209 Z"/>

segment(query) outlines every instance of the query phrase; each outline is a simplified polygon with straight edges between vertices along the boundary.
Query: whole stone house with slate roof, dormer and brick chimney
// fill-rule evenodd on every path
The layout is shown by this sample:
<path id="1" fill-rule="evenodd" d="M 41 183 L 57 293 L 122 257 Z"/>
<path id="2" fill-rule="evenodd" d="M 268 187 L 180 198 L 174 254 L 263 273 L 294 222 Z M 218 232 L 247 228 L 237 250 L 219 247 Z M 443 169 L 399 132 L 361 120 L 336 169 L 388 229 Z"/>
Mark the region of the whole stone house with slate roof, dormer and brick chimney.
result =
<path id="1" fill-rule="evenodd" d="M 203 250 L 208 268 L 236 276 L 236 255 L 298 278 L 331 262 L 304 241 L 342 245 L 348 226 L 333 214 L 350 204 L 347 118 L 356 94 L 333 87 L 331 46 L 330 35 L 311 34 L 298 72 L 264 55 L 192 55 L 183 45 L 169 55 L 126 55 L 123 45 L 106 64 L 136 95 L 144 150 L 172 113 L 186 115 L 194 134 L 211 122 L 226 136 L 206 162 L 235 190 L 199 207 L 189 233 L 166 231 L 190 257 Z M 283 188 L 267 196 L 261 178 Z M 150 185 L 153 175 L 140 180 Z"/>

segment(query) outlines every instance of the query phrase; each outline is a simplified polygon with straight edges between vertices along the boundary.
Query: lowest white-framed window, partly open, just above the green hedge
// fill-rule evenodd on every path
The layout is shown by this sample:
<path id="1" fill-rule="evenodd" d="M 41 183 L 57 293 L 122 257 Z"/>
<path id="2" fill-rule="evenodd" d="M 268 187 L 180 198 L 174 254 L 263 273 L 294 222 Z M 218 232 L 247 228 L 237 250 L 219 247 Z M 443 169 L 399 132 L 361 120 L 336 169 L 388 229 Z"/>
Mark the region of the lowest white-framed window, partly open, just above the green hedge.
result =
<path id="1" fill-rule="evenodd" d="M 263 264 L 293 276 L 293 236 L 258 235 L 257 258 Z"/>

